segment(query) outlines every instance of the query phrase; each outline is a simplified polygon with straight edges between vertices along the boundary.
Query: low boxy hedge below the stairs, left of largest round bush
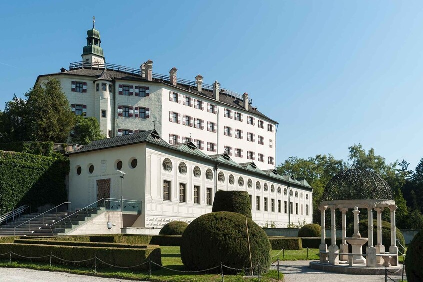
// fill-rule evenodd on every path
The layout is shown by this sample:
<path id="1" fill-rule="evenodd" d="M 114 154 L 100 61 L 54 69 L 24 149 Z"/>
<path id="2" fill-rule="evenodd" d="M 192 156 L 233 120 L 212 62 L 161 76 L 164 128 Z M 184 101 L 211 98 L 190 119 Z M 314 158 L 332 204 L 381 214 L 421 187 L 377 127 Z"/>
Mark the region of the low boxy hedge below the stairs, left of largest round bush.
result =
<path id="1" fill-rule="evenodd" d="M 181 246 L 181 235 L 113 235 L 90 236 L 89 238 L 91 242 Z"/>

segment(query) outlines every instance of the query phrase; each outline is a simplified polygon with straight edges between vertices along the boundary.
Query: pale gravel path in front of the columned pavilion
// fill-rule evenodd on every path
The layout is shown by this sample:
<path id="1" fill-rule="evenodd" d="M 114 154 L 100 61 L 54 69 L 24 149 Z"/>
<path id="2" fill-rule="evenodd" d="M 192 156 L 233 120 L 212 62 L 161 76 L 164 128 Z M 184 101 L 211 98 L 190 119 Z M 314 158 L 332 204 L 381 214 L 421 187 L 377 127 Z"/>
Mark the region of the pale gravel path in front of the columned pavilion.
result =
<path id="1" fill-rule="evenodd" d="M 283 261 L 280 265 L 280 271 L 284 274 L 285 282 L 383 282 L 385 275 L 357 275 L 322 272 L 309 268 L 311 261 Z M 390 275 L 395 281 L 401 279 L 399 275 Z M 406 279 L 404 277 L 404 279 Z"/>

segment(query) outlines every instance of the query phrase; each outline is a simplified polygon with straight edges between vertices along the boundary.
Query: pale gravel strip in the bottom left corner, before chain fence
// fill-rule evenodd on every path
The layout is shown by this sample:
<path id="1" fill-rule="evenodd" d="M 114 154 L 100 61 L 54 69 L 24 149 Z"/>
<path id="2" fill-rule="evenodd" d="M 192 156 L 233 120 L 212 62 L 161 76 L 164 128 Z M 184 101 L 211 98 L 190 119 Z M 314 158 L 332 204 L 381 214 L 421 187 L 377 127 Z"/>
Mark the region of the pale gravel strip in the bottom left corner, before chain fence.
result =
<path id="1" fill-rule="evenodd" d="M 50 272 L 20 268 L 0 268 L 1 282 L 134 282 L 133 280 L 103 278 L 71 274 L 65 272 Z"/>

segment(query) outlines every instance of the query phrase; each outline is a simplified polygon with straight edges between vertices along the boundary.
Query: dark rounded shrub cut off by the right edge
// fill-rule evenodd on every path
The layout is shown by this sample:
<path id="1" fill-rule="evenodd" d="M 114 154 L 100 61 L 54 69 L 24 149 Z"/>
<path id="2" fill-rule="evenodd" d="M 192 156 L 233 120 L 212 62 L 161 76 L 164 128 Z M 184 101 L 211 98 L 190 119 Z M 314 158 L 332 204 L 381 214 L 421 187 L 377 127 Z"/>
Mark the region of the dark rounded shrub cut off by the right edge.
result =
<path id="1" fill-rule="evenodd" d="M 407 248 L 405 268 L 408 282 L 423 281 L 423 229 L 416 234 Z"/>

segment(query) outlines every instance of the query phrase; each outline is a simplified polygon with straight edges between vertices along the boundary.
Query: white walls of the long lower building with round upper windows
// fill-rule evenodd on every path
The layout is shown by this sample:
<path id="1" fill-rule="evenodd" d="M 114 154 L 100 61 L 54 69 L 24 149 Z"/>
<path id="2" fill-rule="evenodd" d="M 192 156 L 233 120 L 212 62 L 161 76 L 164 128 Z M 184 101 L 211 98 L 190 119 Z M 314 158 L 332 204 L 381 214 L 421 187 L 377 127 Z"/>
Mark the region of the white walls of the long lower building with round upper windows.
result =
<path id="1" fill-rule="evenodd" d="M 121 184 L 116 164 L 122 161 L 121 169 L 126 173 L 123 198 L 142 202 L 141 215 L 133 227 L 160 228 L 173 220 L 189 223 L 198 216 L 211 212 L 214 194 L 218 190 L 247 191 L 252 199 L 253 220 L 260 226 L 282 228 L 289 221 L 294 224 L 312 222 L 311 187 L 222 163 L 215 172 L 214 167 L 218 162 L 214 159 L 198 157 L 170 146 L 144 142 L 98 151 L 76 152 L 69 157 L 69 201 L 74 208 L 85 207 L 97 200 L 97 180 L 101 179 L 110 179 L 110 197 L 120 198 Z M 133 159 L 137 159 L 135 168 L 131 165 Z M 165 159 L 170 160 L 171 170 L 165 170 Z M 186 165 L 186 173 L 185 170 L 182 173 L 179 171 L 181 163 Z M 94 166 L 92 173 L 89 172 L 91 165 Z M 80 175 L 77 174 L 79 166 Z M 197 167 L 199 175 L 194 174 L 194 168 L 197 171 Z M 212 179 L 207 179 L 206 171 L 212 172 Z M 215 173 L 222 173 L 224 176 L 223 181 L 218 177 L 216 185 Z M 165 181 L 170 183 L 169 200 L 164 195 Z M 185 185 L 183 200 L 180 198 L 181 184 Z M 194 196 L 194 186 L 198 187 L 198 198 Z M 292 196 L 287 192 L 288 186 Z M 211 192 L 209 202 L 207 188 Z"/>

